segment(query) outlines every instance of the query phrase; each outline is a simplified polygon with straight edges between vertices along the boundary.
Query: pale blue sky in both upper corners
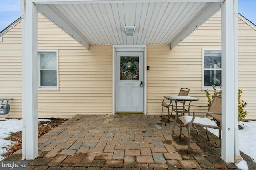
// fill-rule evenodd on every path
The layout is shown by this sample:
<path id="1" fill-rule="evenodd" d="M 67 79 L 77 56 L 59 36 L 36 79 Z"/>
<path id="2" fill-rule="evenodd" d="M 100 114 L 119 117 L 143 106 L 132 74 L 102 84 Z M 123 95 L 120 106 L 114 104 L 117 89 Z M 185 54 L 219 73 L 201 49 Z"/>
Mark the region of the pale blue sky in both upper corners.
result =
<path id="1" fill-rule="evenodd" d="M 256 0 L 238 0 L 238 12 L 256 24 Z M 20 0 L 0 0 L 0 31 L 20 17 Z"/>

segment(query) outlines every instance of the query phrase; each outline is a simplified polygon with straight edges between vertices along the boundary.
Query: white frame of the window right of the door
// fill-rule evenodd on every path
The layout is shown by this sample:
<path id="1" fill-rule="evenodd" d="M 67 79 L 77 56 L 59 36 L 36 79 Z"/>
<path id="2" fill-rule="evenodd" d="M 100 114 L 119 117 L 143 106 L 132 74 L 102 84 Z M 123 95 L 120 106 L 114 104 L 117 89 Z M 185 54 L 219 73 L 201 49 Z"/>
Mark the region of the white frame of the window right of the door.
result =
<path id="1" fill-rule="evenodd" d="M 220 52 L 221 53 L 221 49 L 202 49 L 202 90 L 213 90 L 212 86 L 204 86 L 204 53 L 205 52 Z M 221 70 L 220 69 L 206 69 L 206 70 Z M 220 90 L 221 87 L 220 86 L 216 86 L 216 90 Z"/>

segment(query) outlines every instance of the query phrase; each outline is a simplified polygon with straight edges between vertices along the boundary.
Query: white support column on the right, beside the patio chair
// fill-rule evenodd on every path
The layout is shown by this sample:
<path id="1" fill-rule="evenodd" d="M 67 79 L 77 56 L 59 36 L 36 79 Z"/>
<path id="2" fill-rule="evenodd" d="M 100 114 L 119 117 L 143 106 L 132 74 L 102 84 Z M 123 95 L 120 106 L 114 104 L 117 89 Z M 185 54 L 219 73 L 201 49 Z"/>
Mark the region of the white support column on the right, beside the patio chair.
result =
<path id="1" fill-rule="evenodd" d="M 222 143 L 221 158 L 234 162 L 234 8 L 233 0 L 225 0 L 221 6 L 222 42 Z M 237 93 L 237 92 L 236 92 Z M 237 108 L 236 108 L 237 109 Z"/>

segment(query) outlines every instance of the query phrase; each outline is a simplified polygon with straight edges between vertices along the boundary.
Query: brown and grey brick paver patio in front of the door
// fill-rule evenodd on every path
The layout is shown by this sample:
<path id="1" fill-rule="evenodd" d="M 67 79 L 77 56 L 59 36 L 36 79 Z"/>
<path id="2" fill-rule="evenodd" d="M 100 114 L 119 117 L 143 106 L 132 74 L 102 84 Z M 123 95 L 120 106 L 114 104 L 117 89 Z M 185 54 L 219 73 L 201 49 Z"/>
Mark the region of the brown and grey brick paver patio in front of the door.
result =
<path id="1" fill-rule="evenodd" d="M 29 170 L 167 170 L 237 169 L 220 158 L 218 137 L 205 130 L 179 140 L 176 126 L 164 126 L 166 117 L 156 115 L 77 115 L 39 138 L 39 156 L 29 160 Z M 20 160 L 21 150 L 4 160 Z M 249 169 L 255 162 L 241 152 Z"/>

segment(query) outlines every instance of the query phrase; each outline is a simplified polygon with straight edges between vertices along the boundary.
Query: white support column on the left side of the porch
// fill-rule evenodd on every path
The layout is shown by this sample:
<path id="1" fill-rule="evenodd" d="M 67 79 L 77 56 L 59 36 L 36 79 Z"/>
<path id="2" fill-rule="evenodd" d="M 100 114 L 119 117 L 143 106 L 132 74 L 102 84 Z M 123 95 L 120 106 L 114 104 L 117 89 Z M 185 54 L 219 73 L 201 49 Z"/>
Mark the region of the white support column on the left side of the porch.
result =
<path id="1" fill-rule="evenodd" d="M 22 156 L 26 156 L 26 159 L 34 159 L 38 156 L 37 9 L 33 2 L 26 2 L 25 6 L 25 42 L 22 53 L 22 115 L 23 118 L 25 117 L 25 125 L 23 125 L 25 136 L 22 136 L 22 141 L 25 141 L 26 148 L 22 149 Z"/>

